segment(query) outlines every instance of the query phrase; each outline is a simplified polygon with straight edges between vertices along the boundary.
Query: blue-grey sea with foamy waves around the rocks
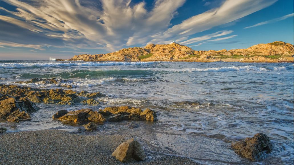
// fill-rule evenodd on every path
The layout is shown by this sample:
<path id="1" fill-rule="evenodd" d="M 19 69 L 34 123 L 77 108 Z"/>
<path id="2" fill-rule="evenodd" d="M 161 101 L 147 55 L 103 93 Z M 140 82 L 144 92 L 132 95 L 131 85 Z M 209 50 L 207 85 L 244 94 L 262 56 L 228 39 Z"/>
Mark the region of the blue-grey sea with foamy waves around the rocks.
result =
<path id="1" fill-rule="evenodd" d="M 53 77 L 69 81 L 15 83 Z M 31 121 L 1 122 L 9 132 L 78 133 L 83 126 L 64 125 L 51 116 L 61 109 L 128 105 L 151 108 L 158 120 L 106 122 L 97 131 L 80 134 L 136 136 L 152 153 L 148 159 L 163 154 L 200 164 L 293 164 L 293 63 L 2 60 L 0 83 L 46 89 L 66 84 L 74 91 L 106 95 L 97 98 L 98 106 L 38 103 L 41 109 L 31 113 Z M 256 133 L 273 142 L 273 151 L 263 161 L 252 162 L 230 147 Z"/>

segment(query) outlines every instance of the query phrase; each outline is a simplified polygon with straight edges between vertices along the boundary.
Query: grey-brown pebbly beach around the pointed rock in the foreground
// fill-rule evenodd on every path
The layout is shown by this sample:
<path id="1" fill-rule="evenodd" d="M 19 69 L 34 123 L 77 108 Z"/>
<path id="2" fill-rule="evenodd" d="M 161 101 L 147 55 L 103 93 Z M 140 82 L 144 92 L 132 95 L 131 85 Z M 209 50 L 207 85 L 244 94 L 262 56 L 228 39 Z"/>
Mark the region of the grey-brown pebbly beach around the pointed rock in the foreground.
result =
<path id="1" fill-rule="evenodd" d="M 111 156 L 130 135 L 78 135 L 64 130 L 38 130 L 0 134 L 1 164 L 124 164 Z M 180 156 L 154 154 L 128 164 L 197 164 Z"/>

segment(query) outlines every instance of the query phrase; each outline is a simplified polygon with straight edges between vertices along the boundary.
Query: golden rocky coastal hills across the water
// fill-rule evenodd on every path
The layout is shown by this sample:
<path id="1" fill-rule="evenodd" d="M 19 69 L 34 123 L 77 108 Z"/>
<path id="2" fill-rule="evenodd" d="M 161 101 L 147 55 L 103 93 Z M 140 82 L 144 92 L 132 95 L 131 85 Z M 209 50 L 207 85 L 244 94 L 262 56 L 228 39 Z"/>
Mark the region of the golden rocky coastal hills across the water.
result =
<path id="1" fill-rule="evenodd" d="M 70 61 L 188 61 L 188 62 L 293 62 L 293 45 L 282 41 L 253 45 L 247 49 L 193 50 L 185 45 L 150 44 L 96 55 L 75 55 Z M 64 61 L 64 59 L 56 59 Z"/>

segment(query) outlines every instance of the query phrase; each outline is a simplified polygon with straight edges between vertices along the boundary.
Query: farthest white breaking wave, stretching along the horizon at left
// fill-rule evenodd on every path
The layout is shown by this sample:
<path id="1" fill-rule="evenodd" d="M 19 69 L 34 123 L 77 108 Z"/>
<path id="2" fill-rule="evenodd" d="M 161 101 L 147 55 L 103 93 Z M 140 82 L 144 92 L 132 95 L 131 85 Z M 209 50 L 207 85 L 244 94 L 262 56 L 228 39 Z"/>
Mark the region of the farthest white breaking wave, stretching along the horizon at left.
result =
<path id="1" fill-rule="evenodd" d="M 3 63 L 0 62 L 1 68 L 25 68 L 25 67 L 59 67 L 59 66 L 112 66 L 112 65 L 143 65 L 154 64 L 155 62 L 18 62 Z"/>

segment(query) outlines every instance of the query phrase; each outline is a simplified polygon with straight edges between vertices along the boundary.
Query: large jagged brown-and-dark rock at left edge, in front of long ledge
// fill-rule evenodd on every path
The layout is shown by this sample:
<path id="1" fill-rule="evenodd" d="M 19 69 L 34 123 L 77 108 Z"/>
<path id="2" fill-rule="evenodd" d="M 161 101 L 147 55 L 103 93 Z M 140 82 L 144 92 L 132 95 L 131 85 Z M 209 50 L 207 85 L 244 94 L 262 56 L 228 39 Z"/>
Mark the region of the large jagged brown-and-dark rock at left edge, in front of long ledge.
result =
<path id="1" fill-rule="evenodd" d="M 27 98 L 0 95 L 0 118 L 9 122 L 31 120 L 29 112 L 40 108 Z"/>

